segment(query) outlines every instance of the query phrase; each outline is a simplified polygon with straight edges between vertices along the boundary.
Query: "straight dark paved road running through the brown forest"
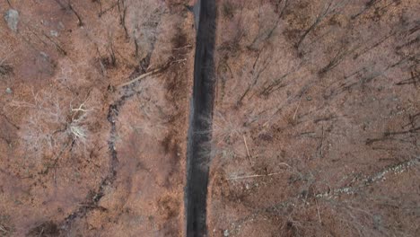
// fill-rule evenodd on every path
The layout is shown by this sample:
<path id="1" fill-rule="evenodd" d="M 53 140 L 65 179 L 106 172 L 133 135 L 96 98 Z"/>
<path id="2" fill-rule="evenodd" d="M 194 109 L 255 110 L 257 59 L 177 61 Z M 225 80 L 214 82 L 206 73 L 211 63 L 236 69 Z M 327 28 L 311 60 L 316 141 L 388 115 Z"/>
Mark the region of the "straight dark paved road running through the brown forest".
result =
<path id="1" fill-rule="evenodd" d="M 206 196 L 214 107 L 215 1 L 199 1 L 200 13 L 190 107 L 185 189 L 186 235 L 206 236 Z"/>

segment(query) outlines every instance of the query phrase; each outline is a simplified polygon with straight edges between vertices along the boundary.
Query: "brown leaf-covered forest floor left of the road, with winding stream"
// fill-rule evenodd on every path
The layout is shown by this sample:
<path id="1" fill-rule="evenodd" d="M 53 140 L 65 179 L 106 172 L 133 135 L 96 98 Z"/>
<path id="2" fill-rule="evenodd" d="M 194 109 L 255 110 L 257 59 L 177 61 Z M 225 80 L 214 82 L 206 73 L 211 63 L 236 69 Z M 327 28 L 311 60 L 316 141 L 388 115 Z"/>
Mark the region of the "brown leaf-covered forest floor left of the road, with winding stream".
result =
<path id="1" fill-rule="evenodd" d="M 182 235 L 184 2 L 0 2 L 0 236 Z"/>

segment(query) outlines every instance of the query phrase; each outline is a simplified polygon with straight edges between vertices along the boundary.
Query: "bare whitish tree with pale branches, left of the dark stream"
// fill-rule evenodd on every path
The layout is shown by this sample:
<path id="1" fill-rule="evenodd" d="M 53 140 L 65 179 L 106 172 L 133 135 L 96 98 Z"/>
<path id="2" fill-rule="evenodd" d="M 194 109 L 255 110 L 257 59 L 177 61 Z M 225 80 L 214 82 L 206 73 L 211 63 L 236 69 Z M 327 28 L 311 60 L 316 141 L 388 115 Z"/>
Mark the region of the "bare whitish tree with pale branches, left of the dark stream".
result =
<path id="1" fill-rule="evenodd" d="M 27 110 L 20 136 L 29 154 L 57 159 L 66 147 L 83 151 L 89 143 L 94 110 L 86 105 L 89 97 L 74 106 L 74 101 L 66 103 L 56 92 L 32 92 L 32 96 L 31 102 L 11 102 L 11 107 Z"/>

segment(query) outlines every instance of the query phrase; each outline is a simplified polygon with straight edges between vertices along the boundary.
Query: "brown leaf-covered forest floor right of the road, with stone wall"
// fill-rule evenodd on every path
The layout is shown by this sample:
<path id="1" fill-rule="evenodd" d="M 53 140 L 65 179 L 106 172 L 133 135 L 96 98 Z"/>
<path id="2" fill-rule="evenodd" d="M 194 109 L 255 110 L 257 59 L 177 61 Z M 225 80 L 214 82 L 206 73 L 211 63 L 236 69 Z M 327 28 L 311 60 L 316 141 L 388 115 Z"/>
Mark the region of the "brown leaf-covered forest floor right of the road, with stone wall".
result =
<path id="1" fill-rule="evenodd" d="M 420 3 L 218 10 L 211 236 L 418 236 Z"/>

